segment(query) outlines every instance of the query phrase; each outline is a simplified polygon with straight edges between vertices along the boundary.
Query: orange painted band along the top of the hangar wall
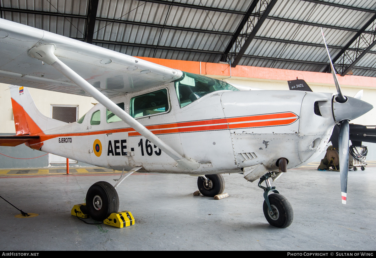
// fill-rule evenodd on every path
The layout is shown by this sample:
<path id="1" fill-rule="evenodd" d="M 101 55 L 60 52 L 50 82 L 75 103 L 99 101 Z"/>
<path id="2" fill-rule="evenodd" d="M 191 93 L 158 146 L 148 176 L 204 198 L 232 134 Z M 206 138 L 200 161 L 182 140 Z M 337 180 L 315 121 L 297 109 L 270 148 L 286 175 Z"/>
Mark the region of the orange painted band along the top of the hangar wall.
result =
<path id="1" fill-rule="evenodd" d="M 207 63 L 207 62 L 194 62 L 194 61 L 183 61 L 183 60 L 170 60 L 170 59 L 159 59 L 151 57 L 138 57 L 153 63 L 158 63 L 167 67 L 179 69 L 185 72 L 192 72 L 195 74 L 207 74 L 214 76 L 230 76 L 230 66 L 220 63 Z M 201 69 L 200 69 L 201 65 Z M 201 71 L 201 72 L 200 72 Z M 306 72 L 306 71 L 296 71 L 296 70 L 285 70 L 285 69 L 275 69 L 275 68 L 265 68 L 265 67 L 254 67 L 254 66 L 244 66 L 238 65 L 235 68 L 231 68 L 232 77 L 243 77 L 243 78 L 255 78 L 264 80 L 294 80 L 296 77 L 303 79 L 308 83 L 317 84 L 334 84 L 332 74 L 323 72 Z M 351 85 L 359 86 L 361 88 L 375 88 L 376 89 L 376 78 L 365 77 L 365 76 L 355 76 L 355 75 L 337 75 L 340 85 Z"/>

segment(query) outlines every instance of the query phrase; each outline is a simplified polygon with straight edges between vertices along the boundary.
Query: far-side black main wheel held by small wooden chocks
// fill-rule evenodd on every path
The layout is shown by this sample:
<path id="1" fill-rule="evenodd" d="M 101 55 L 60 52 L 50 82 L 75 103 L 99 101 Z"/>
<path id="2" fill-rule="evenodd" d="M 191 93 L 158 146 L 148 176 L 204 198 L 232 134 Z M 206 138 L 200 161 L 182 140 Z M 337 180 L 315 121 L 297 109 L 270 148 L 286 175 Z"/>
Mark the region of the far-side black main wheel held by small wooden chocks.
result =
<path id="1" fill-rule="evenodd" d="M 208 178 L 208 186 L 206 186 L 205 178 L 197 178 L 197 187 L 203 196 L 214 197 L 224 191 L 224 179 L 221 174 L 205 175 Z"/>

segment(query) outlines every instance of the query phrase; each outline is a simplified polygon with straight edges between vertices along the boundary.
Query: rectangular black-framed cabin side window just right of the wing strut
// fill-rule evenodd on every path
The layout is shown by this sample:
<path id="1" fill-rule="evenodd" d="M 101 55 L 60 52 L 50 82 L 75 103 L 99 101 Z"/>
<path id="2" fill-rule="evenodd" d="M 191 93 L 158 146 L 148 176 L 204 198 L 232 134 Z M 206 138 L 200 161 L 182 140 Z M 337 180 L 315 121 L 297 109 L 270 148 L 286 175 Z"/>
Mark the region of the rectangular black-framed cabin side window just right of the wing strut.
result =
<path id="1" fill-rule="evenodd" d="M 161 89 L 130 99 L 130 115 L 133 118 L 155 115 L 167 112 L 169 109 L 167 89 Z"/>

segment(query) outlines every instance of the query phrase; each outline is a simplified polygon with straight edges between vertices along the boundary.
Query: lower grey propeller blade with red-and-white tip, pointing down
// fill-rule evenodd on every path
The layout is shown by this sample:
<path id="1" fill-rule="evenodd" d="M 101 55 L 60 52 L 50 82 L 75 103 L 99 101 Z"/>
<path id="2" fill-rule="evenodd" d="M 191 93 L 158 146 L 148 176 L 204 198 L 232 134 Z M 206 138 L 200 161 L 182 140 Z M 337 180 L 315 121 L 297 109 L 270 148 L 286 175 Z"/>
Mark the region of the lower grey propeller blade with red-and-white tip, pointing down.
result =
<path id="1" fill-rule="evenodd" d="M 340 177 L 342 203 L 346 204 L 347 198 L 347 174 L 349 172 L 349 121 L 340 122 L 340 132 L 338 135 L 338 150 L 340 155 Z"/>

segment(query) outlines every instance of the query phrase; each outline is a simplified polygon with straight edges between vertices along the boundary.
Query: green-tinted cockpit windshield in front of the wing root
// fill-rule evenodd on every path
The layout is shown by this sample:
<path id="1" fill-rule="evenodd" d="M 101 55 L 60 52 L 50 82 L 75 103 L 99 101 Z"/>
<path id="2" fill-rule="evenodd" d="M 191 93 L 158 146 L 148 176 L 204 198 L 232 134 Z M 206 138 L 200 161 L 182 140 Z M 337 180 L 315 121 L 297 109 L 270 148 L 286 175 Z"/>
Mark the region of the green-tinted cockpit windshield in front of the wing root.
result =
<path id="1" fill-rule="evenodd" d="M 183 72 L 183 76 L 175 81 L 175 89 L 180 107 L 184 107 L 210 92 L 239 91 L 226 81 L 189 72 Z"/>

